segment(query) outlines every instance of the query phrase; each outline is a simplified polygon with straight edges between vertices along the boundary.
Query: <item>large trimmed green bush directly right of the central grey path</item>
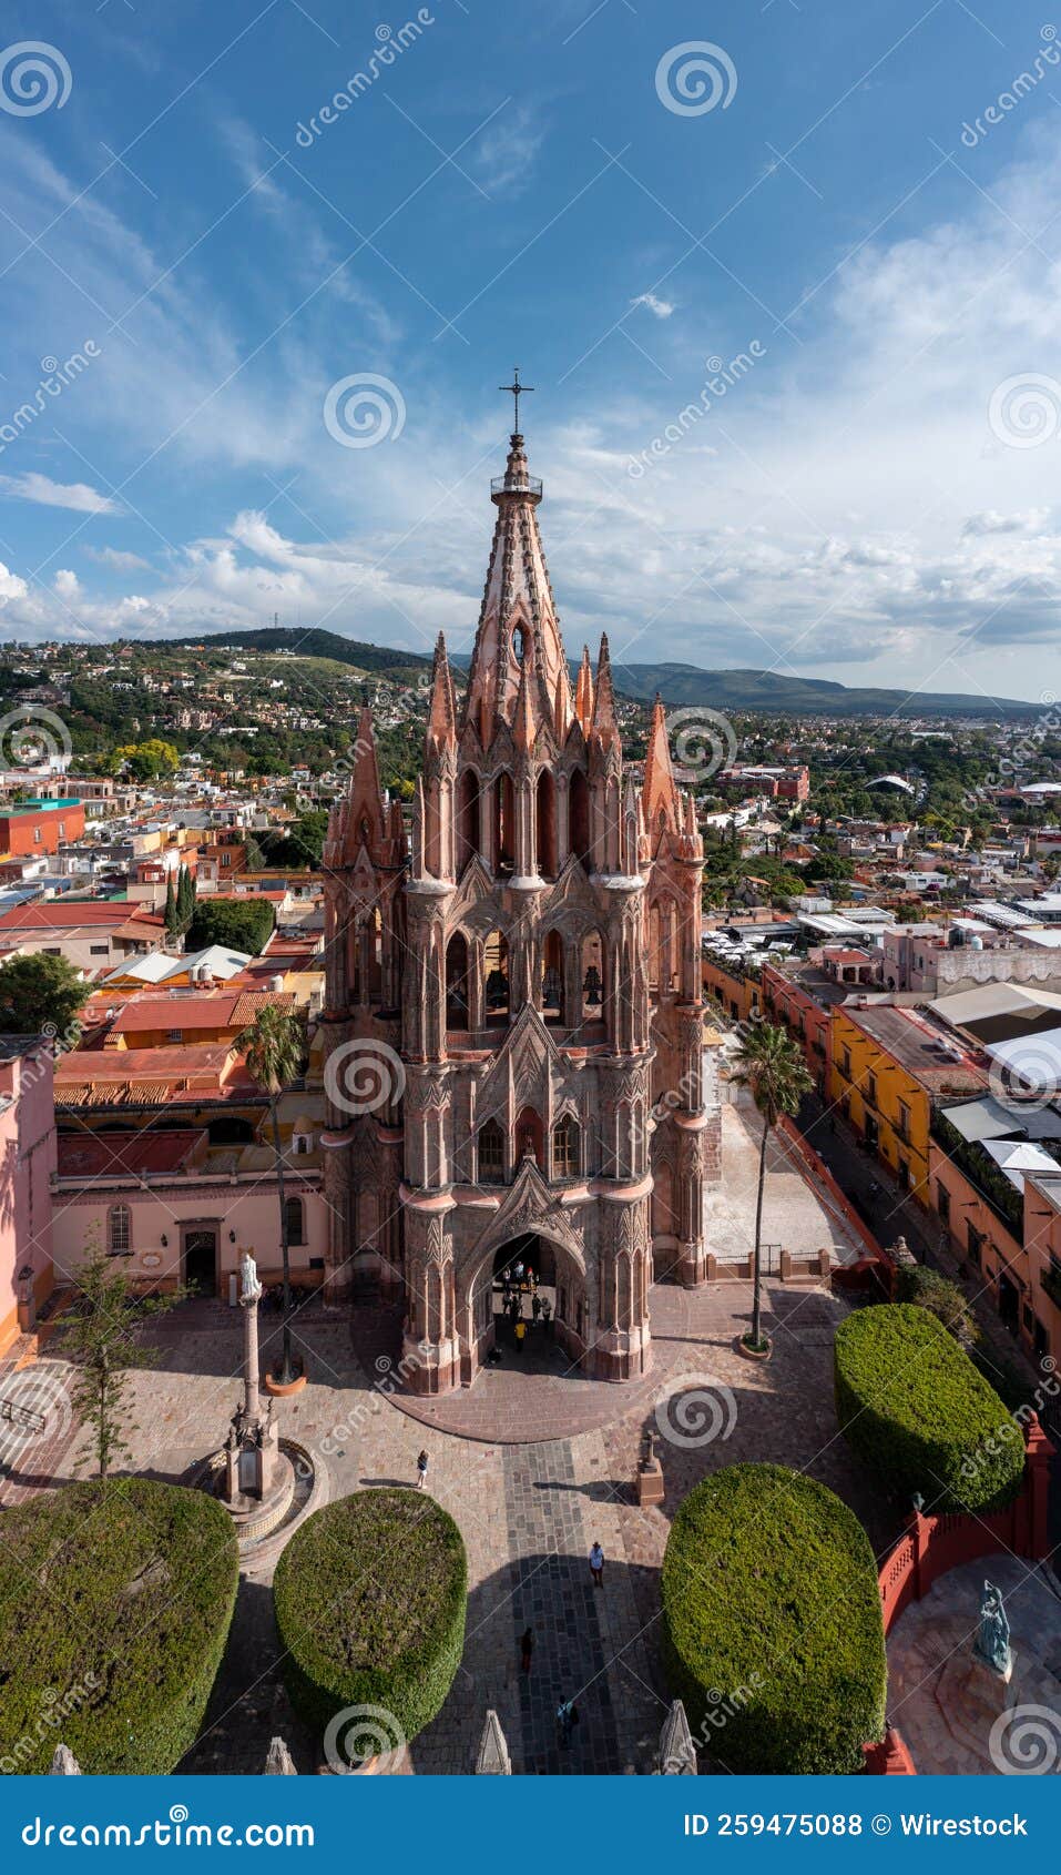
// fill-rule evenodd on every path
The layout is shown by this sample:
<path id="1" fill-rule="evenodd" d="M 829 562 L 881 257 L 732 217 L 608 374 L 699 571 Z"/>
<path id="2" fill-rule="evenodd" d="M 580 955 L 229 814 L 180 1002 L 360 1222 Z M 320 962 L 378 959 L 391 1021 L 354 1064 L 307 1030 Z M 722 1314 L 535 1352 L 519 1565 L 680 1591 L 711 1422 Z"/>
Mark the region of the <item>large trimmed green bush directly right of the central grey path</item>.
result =
<path id="1" fill-rule="evenodd" d="M 664 1665 L 731 1772 L 849 1774 L 885 1731 L 870 1539 L 784 1464 L 731 1464 L 684 1498 L 662 1571 Z"/>

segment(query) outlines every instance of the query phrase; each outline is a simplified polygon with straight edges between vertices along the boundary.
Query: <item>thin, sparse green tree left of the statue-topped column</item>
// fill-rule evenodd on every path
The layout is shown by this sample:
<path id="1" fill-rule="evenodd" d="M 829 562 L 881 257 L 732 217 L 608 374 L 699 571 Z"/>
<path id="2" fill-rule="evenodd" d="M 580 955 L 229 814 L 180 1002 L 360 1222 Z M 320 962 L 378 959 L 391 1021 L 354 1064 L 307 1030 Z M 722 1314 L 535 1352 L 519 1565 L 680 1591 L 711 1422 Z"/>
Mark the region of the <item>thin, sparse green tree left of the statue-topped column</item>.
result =
<path id="1" fill-rule="evenodd" d="M 129 1367 L 154 1367 L 156 1348 L 139 1341 L 141 1322 L 150 1314 L 165 1314 L 184 1290 L 167 1296 L 137 1296 L 129 1275 L 97 1245 L 79 1271 L 81 1299 L 56 1324 L 64 1350 L 77 1369 L 73 1408 L 92 1427 L 96 1470 L 107 1478 L 114 1462 L 129 1457 L 126 1432 L 137 1427 L 129 1419 Z"/>

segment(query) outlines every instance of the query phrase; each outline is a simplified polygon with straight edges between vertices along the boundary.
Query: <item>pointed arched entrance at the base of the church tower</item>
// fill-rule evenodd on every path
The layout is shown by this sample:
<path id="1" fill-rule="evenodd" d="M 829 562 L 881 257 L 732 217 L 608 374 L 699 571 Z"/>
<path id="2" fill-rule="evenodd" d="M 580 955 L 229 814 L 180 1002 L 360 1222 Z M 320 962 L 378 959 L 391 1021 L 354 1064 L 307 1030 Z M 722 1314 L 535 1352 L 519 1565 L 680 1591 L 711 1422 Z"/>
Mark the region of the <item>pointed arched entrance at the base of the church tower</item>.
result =
<path id="1" fill-rule="evenodd" d="M 525 1333 L 517 1337 L 516 1324 Z M 585 1275 L 568 1249 L 525 1230 L 501 1243 L 472 1281 L 472 1358 L 480 1369 L 519 1365 L 529 1372 L 557 1372 L 557 1350 L 566 1367 L 579 1367 L 587 1344 Z M 521 1341 L 521 1346 L 519 1346 Z"/>

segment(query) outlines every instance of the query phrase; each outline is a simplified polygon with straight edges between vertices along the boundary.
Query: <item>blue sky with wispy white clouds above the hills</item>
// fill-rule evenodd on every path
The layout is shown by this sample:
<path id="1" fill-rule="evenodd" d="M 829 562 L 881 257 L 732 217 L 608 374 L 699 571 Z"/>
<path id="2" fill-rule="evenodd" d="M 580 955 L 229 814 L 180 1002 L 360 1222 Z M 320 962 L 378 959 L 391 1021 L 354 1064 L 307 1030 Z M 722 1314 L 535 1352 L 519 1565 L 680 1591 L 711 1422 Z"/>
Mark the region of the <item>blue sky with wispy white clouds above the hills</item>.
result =
<path id="1" fill-rule="evenodd" d="M 4 32 L 0 636 L 279 613 L 465 651 L 519 362 L 568 651 L 1061 690 L 1042 8 L 105 0 Z"/>

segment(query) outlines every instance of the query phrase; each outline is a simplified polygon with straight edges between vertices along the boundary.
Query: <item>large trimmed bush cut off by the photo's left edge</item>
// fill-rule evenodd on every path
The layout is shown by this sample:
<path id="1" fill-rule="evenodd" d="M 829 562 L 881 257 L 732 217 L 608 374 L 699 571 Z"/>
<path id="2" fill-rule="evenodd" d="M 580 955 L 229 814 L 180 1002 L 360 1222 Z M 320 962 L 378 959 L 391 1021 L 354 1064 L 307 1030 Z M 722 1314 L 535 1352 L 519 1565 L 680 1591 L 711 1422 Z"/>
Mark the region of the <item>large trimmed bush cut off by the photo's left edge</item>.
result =
<path id="1" fill-rule="evenodd" d="M 114 1478 L 4 1511 L 0 1770 L 163 1774 L 195 1742 L 236 1605 L 229 1513 Z"/>

